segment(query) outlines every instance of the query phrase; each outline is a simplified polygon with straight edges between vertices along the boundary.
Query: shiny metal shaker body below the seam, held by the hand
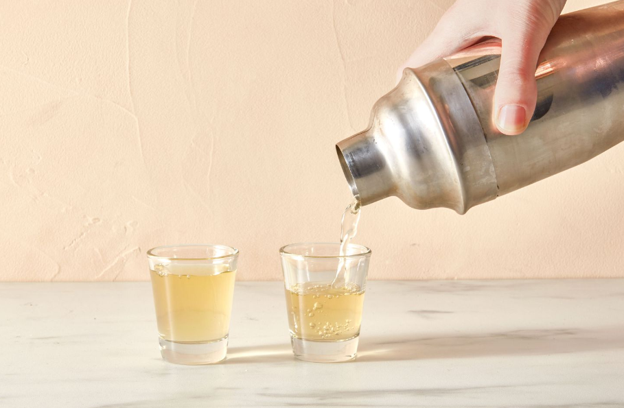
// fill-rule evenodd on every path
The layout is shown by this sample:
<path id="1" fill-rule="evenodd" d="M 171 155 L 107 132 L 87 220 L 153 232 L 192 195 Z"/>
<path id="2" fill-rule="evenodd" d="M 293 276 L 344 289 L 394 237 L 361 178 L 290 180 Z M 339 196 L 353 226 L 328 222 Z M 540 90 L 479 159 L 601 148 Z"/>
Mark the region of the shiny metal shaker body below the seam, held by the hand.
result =
<path id="1" fill-rule="evenodd" d="M 624 139 L 624 2 L 562 16 L 538 60 L 529 128 L 507 136 L 492 121 L 500 43 L 446 58 L 479 117 L 502 195 L 570 169 Z"/>

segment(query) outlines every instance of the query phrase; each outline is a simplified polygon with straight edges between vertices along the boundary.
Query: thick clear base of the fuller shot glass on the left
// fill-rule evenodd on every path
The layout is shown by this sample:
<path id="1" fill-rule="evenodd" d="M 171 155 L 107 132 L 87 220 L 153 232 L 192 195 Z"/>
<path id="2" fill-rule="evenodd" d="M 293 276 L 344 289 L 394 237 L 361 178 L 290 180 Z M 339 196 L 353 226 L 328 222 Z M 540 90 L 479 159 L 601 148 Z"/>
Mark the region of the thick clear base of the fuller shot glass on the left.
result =
<path id="1" fill-rule="evenodd" d="M 208 343 L 180 343 L 158 339 L 161 355 L 174 364 L 200 365 L 218 363 L 227 354 L 227 336 Z"/>

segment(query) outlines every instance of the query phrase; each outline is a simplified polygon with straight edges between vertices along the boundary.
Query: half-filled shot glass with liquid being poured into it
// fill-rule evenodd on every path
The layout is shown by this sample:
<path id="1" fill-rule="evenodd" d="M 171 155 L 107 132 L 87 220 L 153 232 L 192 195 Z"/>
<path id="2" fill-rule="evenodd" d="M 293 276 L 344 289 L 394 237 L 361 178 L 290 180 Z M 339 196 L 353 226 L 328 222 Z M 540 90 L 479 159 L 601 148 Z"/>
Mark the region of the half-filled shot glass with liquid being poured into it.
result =
<path id="1" fill-rule="evenodd" d="M 336 363 L 356 357 L 371 250 L 350 243 L 293 243 L 279 250 L 294 357 Z"/>

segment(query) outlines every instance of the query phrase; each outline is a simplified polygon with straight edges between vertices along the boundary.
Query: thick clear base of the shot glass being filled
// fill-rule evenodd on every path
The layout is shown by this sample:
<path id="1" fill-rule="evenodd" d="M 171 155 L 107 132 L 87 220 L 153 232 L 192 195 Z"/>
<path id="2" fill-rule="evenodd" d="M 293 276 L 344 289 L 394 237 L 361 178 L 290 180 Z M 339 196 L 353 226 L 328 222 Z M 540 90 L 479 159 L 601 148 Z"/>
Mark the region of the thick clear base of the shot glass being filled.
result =
<path id="1" fill-rule="evenodd" d="M 342 341 L 315 341 L 290 335 L 294 357 L 312 363 L 340 363 L 354 359 L 359 341 L 358 336 Z"/>

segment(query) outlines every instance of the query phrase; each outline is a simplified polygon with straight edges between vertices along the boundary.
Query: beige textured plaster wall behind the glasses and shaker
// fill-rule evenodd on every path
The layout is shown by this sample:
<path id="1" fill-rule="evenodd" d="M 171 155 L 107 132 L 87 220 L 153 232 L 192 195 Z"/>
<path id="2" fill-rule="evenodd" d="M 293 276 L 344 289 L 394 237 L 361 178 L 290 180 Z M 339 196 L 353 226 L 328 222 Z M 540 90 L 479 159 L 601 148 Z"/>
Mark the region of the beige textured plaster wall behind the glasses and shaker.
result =
<path id="1" fill-rule="evenodd" d="M 338 239 L 334 143 L 452 1 L 2 1 L 0 280 L 144 280 L 155 245 Z M 566 10 L 602 1 L 570 0 Z M 371 278 L 624 276 L 624 145 L 459 216 L 365 207 Z"/>

